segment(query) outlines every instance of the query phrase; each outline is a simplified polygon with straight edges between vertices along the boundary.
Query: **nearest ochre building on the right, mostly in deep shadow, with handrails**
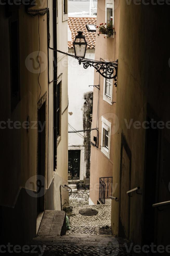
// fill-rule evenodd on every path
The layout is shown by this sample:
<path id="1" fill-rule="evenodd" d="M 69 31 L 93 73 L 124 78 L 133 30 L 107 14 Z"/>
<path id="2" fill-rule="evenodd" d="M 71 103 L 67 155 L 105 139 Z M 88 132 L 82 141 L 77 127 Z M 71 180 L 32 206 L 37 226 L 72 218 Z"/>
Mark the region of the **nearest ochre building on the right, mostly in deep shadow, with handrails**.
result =
<path id="1" fill-rule="evenodd" d="M 113 152 L 113 196 L 119 201 L 112 200 L 113 233 L 147 245 L 145 250 L 149 246 L 152 253 L 152 243 L 165 248 L 169 244 L 170 210 L 168 205 L 154 207 L 170 196 L 170 53 L 166 39 L 170 8 L 166 3 L 155 3 L 119 4 L 115 112 L 119 126 L 114 134 Z M 160 31 L 160 42 L 155 30 Z M 160 71 L 156 72 L 158 60 Z M 127 193 L 135 188 L 140 189 Z"/>

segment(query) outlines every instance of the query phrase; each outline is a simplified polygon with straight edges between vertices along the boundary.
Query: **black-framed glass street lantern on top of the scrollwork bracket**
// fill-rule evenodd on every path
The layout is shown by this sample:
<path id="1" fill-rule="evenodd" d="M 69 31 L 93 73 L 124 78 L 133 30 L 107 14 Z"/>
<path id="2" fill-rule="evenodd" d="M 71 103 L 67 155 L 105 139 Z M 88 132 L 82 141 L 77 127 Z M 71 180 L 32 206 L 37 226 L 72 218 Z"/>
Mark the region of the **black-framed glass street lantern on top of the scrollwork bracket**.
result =
<path id="1" fill-rule="evenodd" d="M 86 42 L 85 36 L 83 36 L 82 31 L 78 31 L 78 35 L 74 40 L 73 46 L 74 46 L 75 56 L 84 59 L 86 54 L 87 42 Z"/>

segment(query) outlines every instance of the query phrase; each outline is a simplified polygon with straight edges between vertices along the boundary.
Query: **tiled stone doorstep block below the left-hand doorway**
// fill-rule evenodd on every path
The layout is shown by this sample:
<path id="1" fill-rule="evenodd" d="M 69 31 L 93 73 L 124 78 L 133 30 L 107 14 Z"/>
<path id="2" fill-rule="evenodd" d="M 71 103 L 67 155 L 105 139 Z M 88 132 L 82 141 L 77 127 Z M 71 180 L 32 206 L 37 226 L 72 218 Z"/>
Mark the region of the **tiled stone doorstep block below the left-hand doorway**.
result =
<path id="1" fill-rule="evenodd" d="M 37 235 L 62 236 L 66 234 L 66 213 L 45 210 Z"/>

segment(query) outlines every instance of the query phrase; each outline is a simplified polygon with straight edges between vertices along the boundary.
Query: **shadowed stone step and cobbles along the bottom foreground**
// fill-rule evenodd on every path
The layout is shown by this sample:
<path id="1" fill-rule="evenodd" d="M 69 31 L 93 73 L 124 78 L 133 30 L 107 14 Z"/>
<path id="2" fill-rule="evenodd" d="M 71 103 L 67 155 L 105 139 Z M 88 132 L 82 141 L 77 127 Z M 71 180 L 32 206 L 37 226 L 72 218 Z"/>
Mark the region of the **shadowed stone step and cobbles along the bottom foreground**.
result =
<path id="1" fill-rule="evenodd" d="M 116 238 L 112 235 L 68 235 L 53 237 L 51 240 L 44 236 L 34 238 L 31 247 L 36 247 L 34 253 L 23 255 L 70 255 L 70 256 L 139 256 L 133 250 L 127 252 L 130 247 L 127 240 Z M 126 246 L 126 247 L 125 247 Z M 42 250 L 44 251 L 42 254 Z"/>

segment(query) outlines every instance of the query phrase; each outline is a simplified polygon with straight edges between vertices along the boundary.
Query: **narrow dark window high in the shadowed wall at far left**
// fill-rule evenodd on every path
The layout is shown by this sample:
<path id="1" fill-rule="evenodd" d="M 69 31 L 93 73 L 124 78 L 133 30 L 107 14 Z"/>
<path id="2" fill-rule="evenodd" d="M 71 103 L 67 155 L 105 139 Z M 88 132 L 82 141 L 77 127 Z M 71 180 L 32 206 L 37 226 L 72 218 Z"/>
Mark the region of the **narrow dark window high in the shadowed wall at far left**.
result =
<path id="1" fill-rule="evenodd" d="M 19 26 L 18 20 L 10 22 L 10 73 L 11 73 L 11 110 L 20 101 L 19 85 Z"/>

